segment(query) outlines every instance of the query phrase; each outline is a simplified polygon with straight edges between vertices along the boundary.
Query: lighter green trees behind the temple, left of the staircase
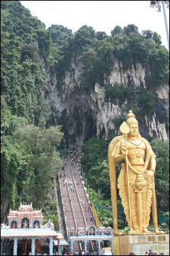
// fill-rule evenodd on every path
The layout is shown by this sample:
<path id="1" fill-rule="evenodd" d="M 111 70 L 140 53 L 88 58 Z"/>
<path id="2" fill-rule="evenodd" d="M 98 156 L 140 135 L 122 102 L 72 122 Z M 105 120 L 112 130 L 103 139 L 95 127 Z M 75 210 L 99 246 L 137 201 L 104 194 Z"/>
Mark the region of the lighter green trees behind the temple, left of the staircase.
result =
<path id="1" fill-rule="evenodd" d="M 24 117 L 12 115 L 1 102 L 1 221 L 9 208 L 20 202 L 43 208 L 45 216 L 53 214 L 54 182 L 61 158 L 56 147 L 63 133 L 60 126 L 40 128 L 28 125 Z"/>

